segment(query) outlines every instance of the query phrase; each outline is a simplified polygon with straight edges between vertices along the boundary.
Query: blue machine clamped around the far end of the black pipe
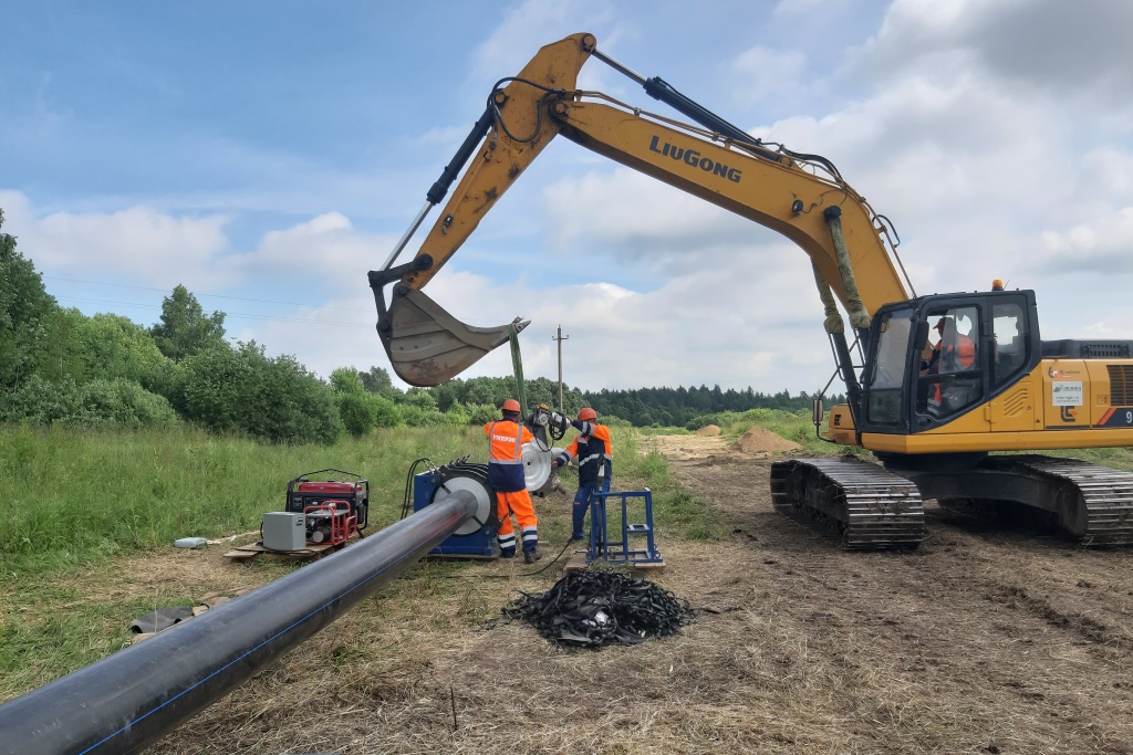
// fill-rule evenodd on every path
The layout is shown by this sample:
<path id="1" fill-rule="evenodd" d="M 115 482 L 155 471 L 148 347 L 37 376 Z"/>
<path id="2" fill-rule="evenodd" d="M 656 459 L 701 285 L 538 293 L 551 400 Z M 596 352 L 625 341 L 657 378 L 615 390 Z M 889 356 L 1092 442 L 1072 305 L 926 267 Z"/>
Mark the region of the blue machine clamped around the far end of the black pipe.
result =
<path id="1" fill-rule="evenodd" d="M 416 464 L 414 466 L 416 467 Z M 429 554 L 492 558 L 495 555 L 493 548 L 499 521 L 495 517 L 495 492 L 488 487 L 488 465 L 470 463 L 468 456 L 465 456 L 440 467 L 429 464 L 429 469 L 419 474 L 414 474 L 412 469 L 410 475 L 414 479 L 414 512 L 441 503 L 458 490 L 467 490 L 476 497 L 476 513 Z"/>

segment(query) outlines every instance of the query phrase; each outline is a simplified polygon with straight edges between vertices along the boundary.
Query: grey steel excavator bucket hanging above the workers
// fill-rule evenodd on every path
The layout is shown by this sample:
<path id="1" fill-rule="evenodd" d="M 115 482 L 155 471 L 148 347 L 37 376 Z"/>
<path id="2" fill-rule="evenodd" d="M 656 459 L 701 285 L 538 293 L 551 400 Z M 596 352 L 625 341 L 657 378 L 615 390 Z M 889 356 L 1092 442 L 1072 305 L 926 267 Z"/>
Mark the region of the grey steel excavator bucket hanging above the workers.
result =
<path id="1" fill-rule="evenodd" d="M 389 311 L 378 311 L 377 334 L 398 377 L 424 388 L 460 375 L 528 323 L 517 317 L 499 327 L 465 325 L 420 291 L 399 285 Z"/>

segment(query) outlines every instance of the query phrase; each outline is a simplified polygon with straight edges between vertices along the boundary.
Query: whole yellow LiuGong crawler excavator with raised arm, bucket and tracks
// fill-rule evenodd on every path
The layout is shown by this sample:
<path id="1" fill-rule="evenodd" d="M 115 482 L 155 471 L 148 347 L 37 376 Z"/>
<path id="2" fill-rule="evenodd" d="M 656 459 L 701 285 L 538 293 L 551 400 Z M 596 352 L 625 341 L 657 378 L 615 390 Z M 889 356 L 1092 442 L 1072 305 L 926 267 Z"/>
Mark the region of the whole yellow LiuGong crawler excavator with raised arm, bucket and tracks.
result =
<path id="1" fill-rule="evenodd" d="M 696 125 L 578 89 L 590 58 Z M 1133 474 L 1068 457 L 990 453 L 1133 445 L 1133 341 L 1042 341 L 1034 292 L 998 282 L 987 291 L 917 295 L 892 223 L 830 161 L 752 137 L 604 54 L 590 34 L 544 46 L 493 87 L 425 206 L 384 266 L 369 273 L 378 336 L 402 380 L 437 385 L 526 325 L 517 318 L 467 326 L 421 289 L 557 135 L 777 231 L 810 257 L 847 397 L 830 410 L 825 436 L 817 401 L 816 428 L 826 440 L 872 452 L 880 464 L 849 455 L 776 462 L 776 509 L 833 526 L 853 549 L 915 547 L 927 499 L 977 512 L 1023 505 L 1083 543 L 1133 542 Z M 397 265 L 461 171 L 416 257 Z"/>

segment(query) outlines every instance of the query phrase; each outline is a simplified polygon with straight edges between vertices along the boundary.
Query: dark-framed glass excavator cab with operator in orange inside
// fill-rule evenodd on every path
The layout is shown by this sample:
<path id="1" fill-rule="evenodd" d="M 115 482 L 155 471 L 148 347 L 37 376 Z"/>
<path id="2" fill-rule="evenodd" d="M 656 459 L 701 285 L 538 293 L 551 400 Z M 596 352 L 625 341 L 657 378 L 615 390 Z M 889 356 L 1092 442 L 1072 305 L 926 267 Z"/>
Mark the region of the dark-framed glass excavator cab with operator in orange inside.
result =
<path id="1" fill-rule="evenodd" d="M 909 435 L 953 422 L 1030 372 L 1040 352 L 1033 291 L 887 304 L 870 328 L 859 427 Z"/>

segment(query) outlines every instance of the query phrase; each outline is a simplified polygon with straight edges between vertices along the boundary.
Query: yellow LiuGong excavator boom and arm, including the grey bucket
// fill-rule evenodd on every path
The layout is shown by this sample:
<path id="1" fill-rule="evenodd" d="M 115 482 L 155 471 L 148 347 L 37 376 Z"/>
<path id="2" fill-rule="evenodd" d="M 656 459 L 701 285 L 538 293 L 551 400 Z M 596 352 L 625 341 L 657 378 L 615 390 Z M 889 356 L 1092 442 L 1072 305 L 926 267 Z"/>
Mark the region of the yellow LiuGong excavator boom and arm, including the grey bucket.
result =
<path id="1" fill-rule="evenodd" d="M 576 88 L 596 55 L 701 126 L 688 126 Z M 506 86 L 501 86 L 506 84 Z M 843 329 L 833 293 L 863 333 L 879 307 L 909 298 L 886 247 L 888 226 L 828 161 L 769 149 L 700 108 L 661 79 L 644 79 L 599 53 L 594 36 L 576 34 L 539 50 L 514 78 L 493 89 L 457 157 L 433 186 L 428 204 L 381 271 L 369 274 L 378 335 L 401 379 L 436 385 L 508 340 L 514 323 L 472 328 L 451 317 L 421 289 L 468 239 L 484 215 L 556 135 L 696 197 L 777 231 L 810 257 L 826 303 L 826 329 Z M 424 214 L 468 162 L 412 261 L 393 261 Z M 713 264 L 713 263 L 708 263 Z M 727 260 L 715 263 L 726 269 Z M 384 286 L 392 286 L 389 307 Z M 828 286 L 828 289 L 827 289 Z M 910 286 L 911 288 L 911 286 Z M 840 362 L 849 364 L 840 355 Z M 843 369 L 843 377 L 850 377 Z"/>

